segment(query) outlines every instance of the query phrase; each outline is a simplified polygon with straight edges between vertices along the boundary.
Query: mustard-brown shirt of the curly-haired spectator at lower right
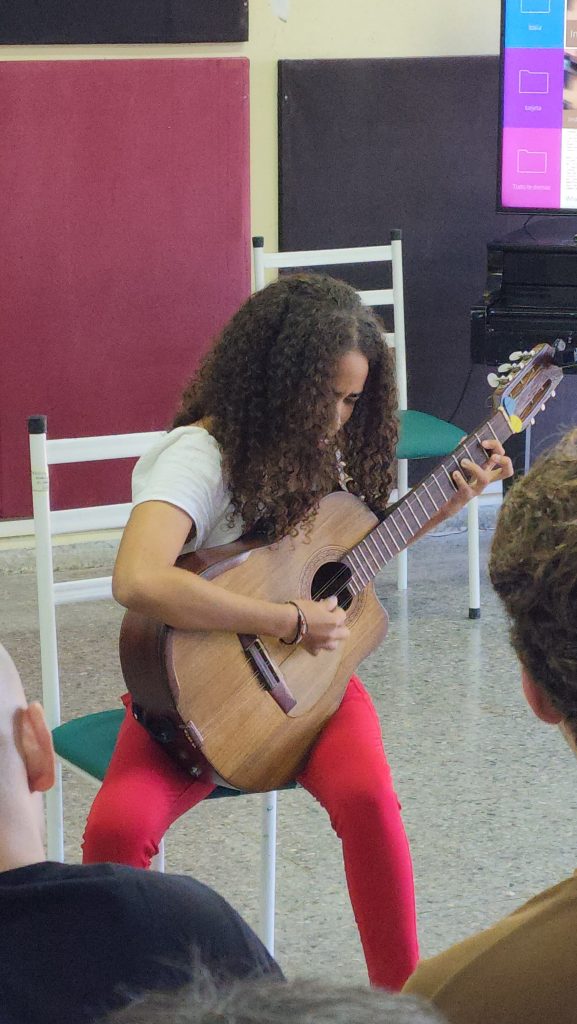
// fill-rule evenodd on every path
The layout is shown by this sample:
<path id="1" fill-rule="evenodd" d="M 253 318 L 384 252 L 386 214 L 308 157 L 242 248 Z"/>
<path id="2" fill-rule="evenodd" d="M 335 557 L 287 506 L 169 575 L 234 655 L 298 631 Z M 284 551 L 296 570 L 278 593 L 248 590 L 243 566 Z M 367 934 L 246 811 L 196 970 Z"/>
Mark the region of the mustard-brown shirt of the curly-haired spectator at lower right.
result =
<path id="1" fill-rule="evenodd" d="M 423 961 L 404 991 L 451 1024 L 576 1024 L 577 878 Z"/>

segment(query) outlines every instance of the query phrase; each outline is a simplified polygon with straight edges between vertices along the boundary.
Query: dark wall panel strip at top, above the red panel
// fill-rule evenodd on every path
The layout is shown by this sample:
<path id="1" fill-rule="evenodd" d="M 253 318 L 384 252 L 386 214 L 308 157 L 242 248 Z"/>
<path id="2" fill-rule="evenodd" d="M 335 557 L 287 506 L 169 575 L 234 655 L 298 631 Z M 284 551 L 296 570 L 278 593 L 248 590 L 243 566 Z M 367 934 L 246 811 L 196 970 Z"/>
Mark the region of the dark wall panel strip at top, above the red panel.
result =
<path id="1" fill-rule="evenodd" d="M 248 39 L 248 0 L 2 0 L 0 43 Z"/>

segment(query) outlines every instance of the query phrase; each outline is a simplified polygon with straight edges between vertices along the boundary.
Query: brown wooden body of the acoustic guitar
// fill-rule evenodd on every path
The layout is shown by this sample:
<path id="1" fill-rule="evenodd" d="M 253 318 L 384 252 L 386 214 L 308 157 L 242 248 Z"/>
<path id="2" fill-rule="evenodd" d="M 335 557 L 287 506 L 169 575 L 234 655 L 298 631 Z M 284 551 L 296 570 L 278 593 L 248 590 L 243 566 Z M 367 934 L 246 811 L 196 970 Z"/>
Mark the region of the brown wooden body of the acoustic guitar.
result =
<path id="1" fill-rule="evenodd" d="M 178 564 L 267 601 L 329 596 L 339 587 L 334 563 L 376 523 L 359 499 L 335 493 L 321 502 L 308 537 L 271 547 L 236 542 Z M 339 603 L 347 606 L 351 635 L 336 651 L 316 656 L 272 637 L 173 630 L 128 611 L 120 654 L 136 716 L 193 773 L 210 765 L 237 788 L 278 788 L 294 779 L 351 675 L 386 635 L 388 618 L 372 585 L 342 592 Z M 283 681 L 279 692 L 266 689 L 257 671 L 271 663 Z"/>

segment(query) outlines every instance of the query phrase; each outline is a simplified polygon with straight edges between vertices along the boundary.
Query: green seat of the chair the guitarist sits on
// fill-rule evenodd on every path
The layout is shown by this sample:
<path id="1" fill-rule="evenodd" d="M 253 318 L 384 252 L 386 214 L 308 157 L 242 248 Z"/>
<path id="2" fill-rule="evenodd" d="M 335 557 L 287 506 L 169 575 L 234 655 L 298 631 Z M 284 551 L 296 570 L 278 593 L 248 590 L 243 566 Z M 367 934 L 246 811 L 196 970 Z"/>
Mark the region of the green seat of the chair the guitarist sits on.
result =
<path id="1" fill-rule="evenodd" d="M 52 730 L 54 750 L 58 757 L 92 778 L 102 781 L 110 764 L 120 726 L 124 719 L 124 711 L 100 711 L 95 715 L 84 715 L 73 718 Z M 294 790 L 296 782 L 282 786 L 283 790 Z M 210 799 L 219 797 L 241 797 L 240 790 L 230 790 L 225 785 L 217 785 L 210 794 Z"/>

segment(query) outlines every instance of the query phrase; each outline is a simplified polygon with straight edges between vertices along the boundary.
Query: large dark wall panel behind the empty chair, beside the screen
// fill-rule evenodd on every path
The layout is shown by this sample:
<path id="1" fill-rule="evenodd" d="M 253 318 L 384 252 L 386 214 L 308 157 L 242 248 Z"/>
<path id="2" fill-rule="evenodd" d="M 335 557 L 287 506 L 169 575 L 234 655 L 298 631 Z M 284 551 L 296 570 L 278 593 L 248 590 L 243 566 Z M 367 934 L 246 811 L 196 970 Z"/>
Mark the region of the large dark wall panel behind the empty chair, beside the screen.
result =
<path id="1" fill-rule="evenodd" d="M 497 57 L 281 61 L 279 113 L 281 248 L 374 245 L 403 229 L 409 402 L 448 418 L 470 370 L 487 242 L 525 219 L 495 213 Z M 348 279 L 376 285 L 370 270 Z M 537 440 L 575 422 L 576 383 Z M 455 421 L 475 427 L 487 395 L 476 367 Z"/>

